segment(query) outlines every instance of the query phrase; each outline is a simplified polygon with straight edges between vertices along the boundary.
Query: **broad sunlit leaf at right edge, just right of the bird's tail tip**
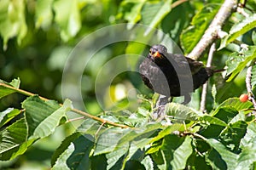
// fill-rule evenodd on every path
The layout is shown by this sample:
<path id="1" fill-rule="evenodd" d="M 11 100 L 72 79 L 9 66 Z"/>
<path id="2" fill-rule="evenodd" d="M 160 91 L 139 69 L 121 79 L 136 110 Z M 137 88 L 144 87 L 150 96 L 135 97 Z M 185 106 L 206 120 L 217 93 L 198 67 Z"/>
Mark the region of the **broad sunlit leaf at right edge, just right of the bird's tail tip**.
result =
<path id="1" fill-rule="evenodd" d="M 227 82 L 233 80 L 238 73 L 240 73 L 247 65 L 256 58 L 256 46 L 249 46 L 248 49 L 242 49 L 240 53 L 235 52 L 230 54 L 229 59 L 226 61 L 228 66 L 227 75 L 230 75 Z"/>

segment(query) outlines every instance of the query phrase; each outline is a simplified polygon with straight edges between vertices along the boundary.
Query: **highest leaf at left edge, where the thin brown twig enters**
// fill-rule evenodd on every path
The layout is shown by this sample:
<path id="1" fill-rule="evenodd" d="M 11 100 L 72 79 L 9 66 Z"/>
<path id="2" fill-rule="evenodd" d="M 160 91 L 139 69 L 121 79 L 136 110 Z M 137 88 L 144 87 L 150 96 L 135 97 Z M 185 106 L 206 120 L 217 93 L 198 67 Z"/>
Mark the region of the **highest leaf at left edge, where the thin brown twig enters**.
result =
<path id="1" fill-rule="evenodd" d="M 20 79 L 14 79 L 12 82 L 4 82 L 3 80 L 0 79 L 0 99 L 3 98 L 4 96 L 7 96 L 9 94 L 15 93 L 15 89 L 7 88 L 4 87 L 3 85 L 9 85 L 13 88 L 19 88 L 20 87 Z"/>

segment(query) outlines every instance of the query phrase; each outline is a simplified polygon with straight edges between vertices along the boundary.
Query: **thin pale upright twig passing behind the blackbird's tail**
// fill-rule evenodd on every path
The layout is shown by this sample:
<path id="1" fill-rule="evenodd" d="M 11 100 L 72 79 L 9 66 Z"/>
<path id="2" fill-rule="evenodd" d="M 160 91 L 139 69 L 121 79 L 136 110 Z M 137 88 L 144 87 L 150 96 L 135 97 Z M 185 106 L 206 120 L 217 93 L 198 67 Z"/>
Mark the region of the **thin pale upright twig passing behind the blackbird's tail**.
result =
<path id="1" fill-rule="evenodd" d="M 211 46 L 211 48 L 209 50 L 209 55 L 208 55 L 208 59 L 207 59 L 207 67 L 211 67 L 212 66 L 212 59 L 213 59 L 213 54 L 214 54 L 215 50 L 216 50 L 216 43 L 213 42 L 212 46 Z M 202 91 L 201 91 L 200 111 L 205 111 L 206 110 L 207 86 L 208 86 L 207 82 L 203 85 Z"/>

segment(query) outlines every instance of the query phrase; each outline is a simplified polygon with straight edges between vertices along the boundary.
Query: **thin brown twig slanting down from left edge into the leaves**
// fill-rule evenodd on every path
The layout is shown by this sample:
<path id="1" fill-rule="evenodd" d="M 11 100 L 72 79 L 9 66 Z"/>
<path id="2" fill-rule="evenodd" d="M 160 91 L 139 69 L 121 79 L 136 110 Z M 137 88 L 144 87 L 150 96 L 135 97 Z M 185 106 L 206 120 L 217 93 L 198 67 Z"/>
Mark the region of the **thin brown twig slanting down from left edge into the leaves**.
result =
<path id="1" fill-rule="evenodd" d="M 22 90 L 20 88 L 14 88 L 8 84 L 4 84 L 2 82 L 0 82 L 0 86 L 3 86 L 5 88 L 9 88 L 9 89 L 12 89 L 14 90 L 15 92 L 19 93 L 19 94 L 24 94 L 26 96 L 33 96 L 33 95 L 36 95 L 36 94 L 32 94 L 31 92 L 27 92 L 26 90 Z M 46 99 L 44 97 L 41 97 L 41 96 L 38 96 L 40 99 L 44 100 L 44 101 L 48 101 L 49 99 Z M 62 105 L 62 104 L 60 104 Z M 80 111 L 78 109 L 75 109 L 73 108 L 71 111 L 75 112 L 75 113 L 78 113 L 79 115 L 82 115 L 82 116 L 86 116 L 86 117 L 89 117 L 93 120 L 96 120 L 98 122 L 102 122 L 102 123 L 107 123 L 109 125 L 113 125 L 114 127 L 122 127 L 122 128 L 131 128 L 129 126 L 126 126 L 126 125 L 122 125 L 122 124 L 118 124 L 118 123 L 115 123 L 115 122 L 111 122 L 111 121 L 108 121 L 108 120 L 105 120 L 105 119 L 102 119 L 100 117 L 97 117 L 97 116 L 93 116 L 93 115 L 90 115 L 89 113 L 86 113 L 84 111 Z"/>

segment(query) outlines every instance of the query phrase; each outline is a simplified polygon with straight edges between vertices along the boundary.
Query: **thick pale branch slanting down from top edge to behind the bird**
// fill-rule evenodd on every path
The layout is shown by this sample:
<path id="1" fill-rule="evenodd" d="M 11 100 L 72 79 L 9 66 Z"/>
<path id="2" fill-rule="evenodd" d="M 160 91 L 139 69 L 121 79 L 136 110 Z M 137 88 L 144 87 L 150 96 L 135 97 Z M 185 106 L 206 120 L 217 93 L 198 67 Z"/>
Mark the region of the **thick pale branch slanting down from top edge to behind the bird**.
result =
<path id="1" fill-rule="evenodd" d="M 215 39 L 218 38 L 218 32 L 221 31 L 221 27 L 224 25 L 225 20 L 230 17 L 231 12 L 236 8 L 237 0 L 225 0 L 223 5 L 219 8 L 218 13 L 212 20 L 211 25 L 205 31 L 201 40 L 193 48 L 192 52 L 188 55 L 191 59 L 199 59 L 201 54 L 209 47 Z"/>

